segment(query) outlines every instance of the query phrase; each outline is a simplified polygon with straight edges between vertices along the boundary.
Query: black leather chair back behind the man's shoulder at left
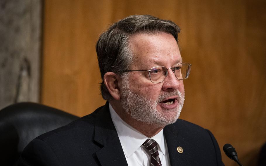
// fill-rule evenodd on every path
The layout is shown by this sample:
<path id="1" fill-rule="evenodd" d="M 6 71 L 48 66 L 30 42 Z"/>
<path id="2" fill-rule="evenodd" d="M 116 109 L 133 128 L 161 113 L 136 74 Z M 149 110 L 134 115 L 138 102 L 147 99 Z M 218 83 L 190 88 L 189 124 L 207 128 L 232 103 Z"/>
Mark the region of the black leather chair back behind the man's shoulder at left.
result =
<path id="1" fill-rule="evenodd" d="M 37 103 L 16 103 L 0 110 L 0 165 L 17 165 L 32 139 L 77 118 Z"/>

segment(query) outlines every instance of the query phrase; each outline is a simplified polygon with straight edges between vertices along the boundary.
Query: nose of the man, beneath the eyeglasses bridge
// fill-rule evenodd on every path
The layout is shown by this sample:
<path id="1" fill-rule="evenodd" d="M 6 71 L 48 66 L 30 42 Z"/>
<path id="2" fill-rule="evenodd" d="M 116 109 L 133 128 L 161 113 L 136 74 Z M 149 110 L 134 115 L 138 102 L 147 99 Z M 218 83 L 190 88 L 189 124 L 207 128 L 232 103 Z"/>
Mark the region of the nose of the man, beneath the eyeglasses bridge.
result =
<path id="1" fill-rule="evenodd" d="M 168 69 L 168 74 L 163 80 L 163 90 L 164 91 L 174 91 L 179 88 L 180 84 L 183 84 L 183 80 L 178 80 L 175 77 L 174 71 L 170 68 Z"/>

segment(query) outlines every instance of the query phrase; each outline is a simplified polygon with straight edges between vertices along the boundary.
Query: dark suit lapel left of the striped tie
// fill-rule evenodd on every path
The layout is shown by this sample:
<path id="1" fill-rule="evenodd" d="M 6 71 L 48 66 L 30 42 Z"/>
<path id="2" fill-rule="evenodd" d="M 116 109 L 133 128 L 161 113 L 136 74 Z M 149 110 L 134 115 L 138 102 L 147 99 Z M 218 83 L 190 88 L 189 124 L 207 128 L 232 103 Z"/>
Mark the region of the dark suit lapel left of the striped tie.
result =
<path id="1" fill-rule="evenodd" d="M 109 103 L 95 115 L 94 141 L 103 148 L 96 152 L 102 166 L 127 165 L 127 160 L 110 116 Z"/>

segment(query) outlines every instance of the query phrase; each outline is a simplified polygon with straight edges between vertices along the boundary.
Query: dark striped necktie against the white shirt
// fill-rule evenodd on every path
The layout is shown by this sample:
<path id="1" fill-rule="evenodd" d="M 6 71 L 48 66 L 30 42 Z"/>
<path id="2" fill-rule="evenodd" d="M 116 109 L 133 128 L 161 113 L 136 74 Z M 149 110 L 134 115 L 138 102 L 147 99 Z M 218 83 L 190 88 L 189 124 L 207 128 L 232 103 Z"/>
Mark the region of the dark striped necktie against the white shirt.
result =
<path id="1" fill-rule="evenodd" d="M 159 158 L 157 142 L 153 139 L 147 139 L 142 145 L 151 154 L 150 166 L 162 166 L 161 160 Z"/>

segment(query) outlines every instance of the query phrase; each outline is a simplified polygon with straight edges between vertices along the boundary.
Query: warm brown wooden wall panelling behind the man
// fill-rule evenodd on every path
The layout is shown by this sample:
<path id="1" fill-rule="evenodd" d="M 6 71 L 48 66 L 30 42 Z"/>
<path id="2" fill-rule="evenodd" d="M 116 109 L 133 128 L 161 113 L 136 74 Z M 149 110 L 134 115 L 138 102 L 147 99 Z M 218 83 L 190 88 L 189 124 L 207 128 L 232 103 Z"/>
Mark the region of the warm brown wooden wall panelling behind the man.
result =
<path id="1" fill-rule="evenodd" d="M 127 15 L 170 19 L 181 26 L 181 54 L 192 63 L 181 118 L 210 129 L 221 149 L 231 143 L 244 165 L 254 165 L 266 141 L 265 7 L 249 0 L 46 0 L 41 101 L 79 116 L 91 113 L 105 103 L 99 34 Z"/>

